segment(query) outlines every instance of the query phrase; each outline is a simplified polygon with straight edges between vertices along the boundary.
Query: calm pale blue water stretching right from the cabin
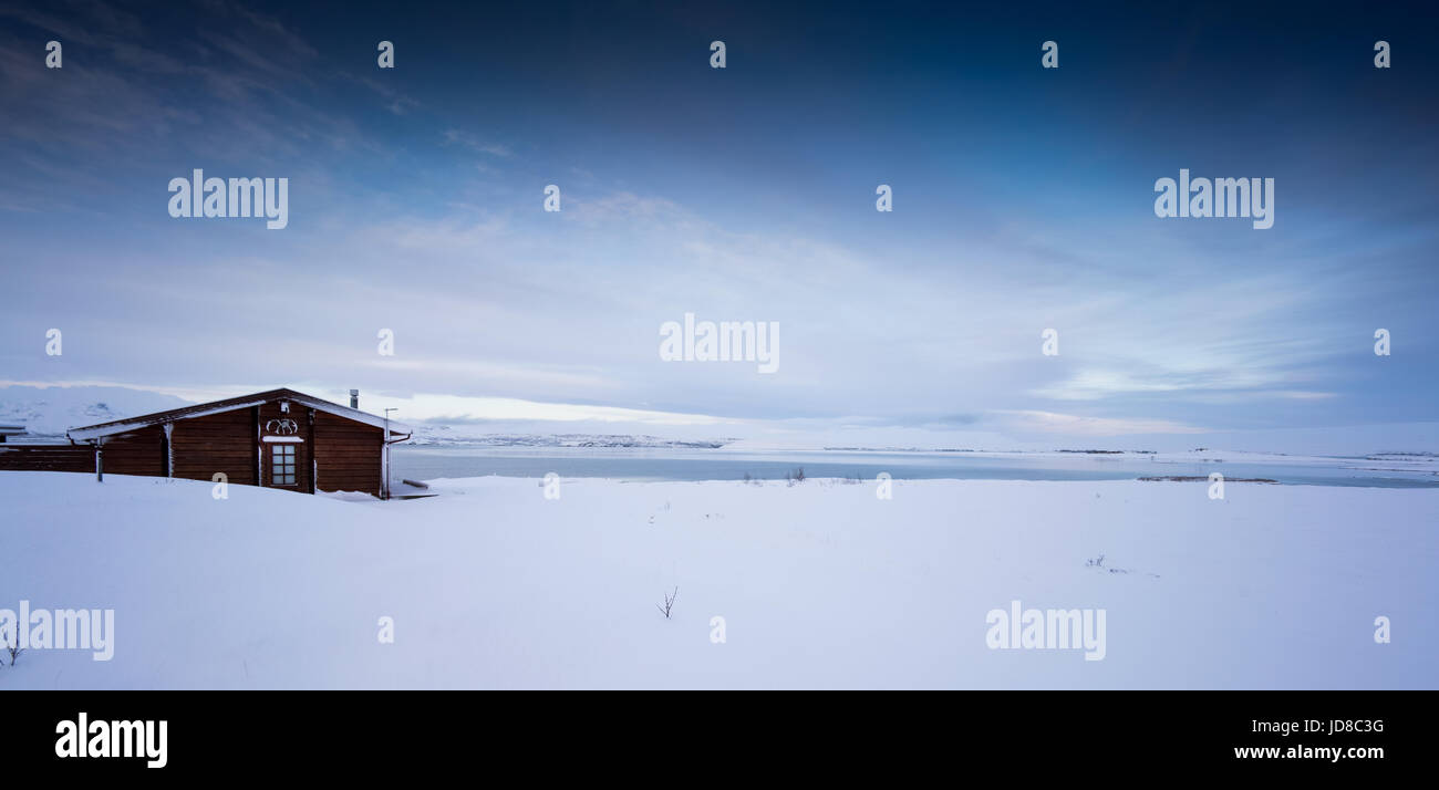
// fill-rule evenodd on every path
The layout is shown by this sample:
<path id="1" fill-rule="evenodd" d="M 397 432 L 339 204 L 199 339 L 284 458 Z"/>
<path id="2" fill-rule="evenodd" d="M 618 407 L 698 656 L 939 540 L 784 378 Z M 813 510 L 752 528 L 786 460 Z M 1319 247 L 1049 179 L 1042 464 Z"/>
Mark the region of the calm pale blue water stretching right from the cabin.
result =
<path id="1" fill-rule="evenodd" d="M 1390 472 L 1345 469 L 1345 465 L 1379 466 L 1360 459 L 1333 463 L 1216 463 L 1163 462 L 1147 456 L 976 456 L 973 453 L 905 452 L 737 452 L 689 449 L 614 448 L 406 448 L 391 459 L 396 481 L 435 478 L 612 478 L 620 481 L 740 481 L 783 479 L 803 468 L 809 478 L 873 479 L 888 472 L 894 479 L 1012 479 L 1012 481 L 1122 481 L 1140 476 L 1222 472 L 1225 478 L 1268 478 L 1285 485 L 1356 485 L 1377 488 L 1435 488 L 1429 471 Z"/>

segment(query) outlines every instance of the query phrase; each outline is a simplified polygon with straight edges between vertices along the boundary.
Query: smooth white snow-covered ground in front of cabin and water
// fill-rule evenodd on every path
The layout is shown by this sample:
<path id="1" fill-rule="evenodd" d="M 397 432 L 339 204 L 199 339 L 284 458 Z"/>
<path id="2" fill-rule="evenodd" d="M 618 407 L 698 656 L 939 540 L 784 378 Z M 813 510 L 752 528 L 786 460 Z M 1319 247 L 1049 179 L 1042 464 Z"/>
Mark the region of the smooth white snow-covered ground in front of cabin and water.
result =
<path id="1" fill-rule="evenodd" d="M 30 650 L 0 688 L 1439 686 L 1439 492 L 1207 488 L 479 478 L 354 502 L 0 472 L 0 609 L 115 612 L 111 660 Z M 1102 609 L 1104 659 L 987 648 L 1013 600 Z"/>

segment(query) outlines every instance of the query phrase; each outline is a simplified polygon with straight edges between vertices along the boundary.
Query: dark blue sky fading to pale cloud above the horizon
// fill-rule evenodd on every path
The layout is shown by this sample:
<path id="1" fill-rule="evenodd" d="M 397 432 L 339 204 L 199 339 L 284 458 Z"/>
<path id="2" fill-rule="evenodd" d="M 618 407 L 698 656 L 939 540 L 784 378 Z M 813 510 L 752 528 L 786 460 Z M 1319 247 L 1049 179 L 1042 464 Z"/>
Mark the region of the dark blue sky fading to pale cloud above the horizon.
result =
<path id="1" fill-rule="evenodd" d="M 1013 437 L 1433 419 L 1425 6 L 299 6 L 0 10 L 0 378 Z M 193 168 L 289 178 L 289 226 L 170 217 Z M 1274 227 L 1156 217 L 1180 168 L 1275 178 Z M 780 322 L 780 373 L 659 361 L 685 312 Z"/>

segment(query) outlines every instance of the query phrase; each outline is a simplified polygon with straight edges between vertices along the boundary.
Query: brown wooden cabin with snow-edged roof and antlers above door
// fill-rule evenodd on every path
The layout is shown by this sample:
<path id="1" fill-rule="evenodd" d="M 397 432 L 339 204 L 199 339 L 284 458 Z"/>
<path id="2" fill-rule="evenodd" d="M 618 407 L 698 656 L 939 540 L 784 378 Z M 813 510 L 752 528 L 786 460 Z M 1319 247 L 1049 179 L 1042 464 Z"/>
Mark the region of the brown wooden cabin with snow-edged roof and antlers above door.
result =
<path id="1" fill-rule="evenodd" d="M 407 426 L 295 390 L 199 403 L 66 432 L 71 445 L 14 445 L 0 469 L 224 479 L 314 494 L 389 498 L 390 445 Z M 217 475 L 224 475 L 219 478 Z"/>

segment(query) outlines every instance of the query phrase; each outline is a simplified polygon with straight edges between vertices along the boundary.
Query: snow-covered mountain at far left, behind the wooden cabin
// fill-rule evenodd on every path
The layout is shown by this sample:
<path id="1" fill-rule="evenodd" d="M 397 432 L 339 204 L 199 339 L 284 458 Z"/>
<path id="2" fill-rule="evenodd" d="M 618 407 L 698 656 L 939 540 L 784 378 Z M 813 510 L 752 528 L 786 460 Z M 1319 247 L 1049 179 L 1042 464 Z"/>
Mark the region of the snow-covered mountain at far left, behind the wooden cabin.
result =
<path id="1" fill-rule="evenodd" d="M 29 433 L 24 440 L 55 439 L 71 427 L 180 406 L 190 401 L 128 387 L 0 387 L 0 424 L 23 424 Z"/>

